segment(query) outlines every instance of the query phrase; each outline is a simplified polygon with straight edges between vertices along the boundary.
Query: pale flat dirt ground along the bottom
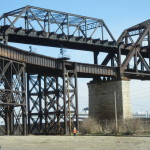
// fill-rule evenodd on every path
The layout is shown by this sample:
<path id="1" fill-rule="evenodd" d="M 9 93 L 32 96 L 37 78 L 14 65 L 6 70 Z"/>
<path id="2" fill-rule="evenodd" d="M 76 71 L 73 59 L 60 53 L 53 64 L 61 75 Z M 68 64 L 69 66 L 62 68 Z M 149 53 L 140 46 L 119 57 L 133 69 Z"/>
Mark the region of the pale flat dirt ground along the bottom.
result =
<path id="1" fill-rule="evenodd" d="M 150 150 L 150 137 L 1 136 L 0 150 Z"/>

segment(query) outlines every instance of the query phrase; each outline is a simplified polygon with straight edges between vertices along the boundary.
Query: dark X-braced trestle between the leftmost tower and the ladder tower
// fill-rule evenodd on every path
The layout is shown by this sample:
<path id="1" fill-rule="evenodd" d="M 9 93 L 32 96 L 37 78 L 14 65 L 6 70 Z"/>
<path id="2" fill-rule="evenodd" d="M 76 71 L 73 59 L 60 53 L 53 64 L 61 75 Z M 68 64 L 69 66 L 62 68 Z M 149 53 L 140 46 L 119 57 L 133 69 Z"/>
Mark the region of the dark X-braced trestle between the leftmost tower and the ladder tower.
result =
<path id="1" fill-rule="evenodd" d="M 63 88 L 58 77 L 28 73 L 28 133 L 64 133 Z"/>

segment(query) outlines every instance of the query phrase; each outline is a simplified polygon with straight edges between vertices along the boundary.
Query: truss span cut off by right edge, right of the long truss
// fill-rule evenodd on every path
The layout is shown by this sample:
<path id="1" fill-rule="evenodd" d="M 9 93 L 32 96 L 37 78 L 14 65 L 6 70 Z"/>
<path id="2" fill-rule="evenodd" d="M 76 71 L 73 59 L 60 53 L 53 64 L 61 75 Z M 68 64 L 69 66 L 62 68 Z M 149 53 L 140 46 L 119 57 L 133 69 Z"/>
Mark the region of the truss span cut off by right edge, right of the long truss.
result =
<path id="1" fill-rule="evenodd" d="M 117 41 L 121 51 L 128 49 L 124 60 L 120 60 L 120 72 L 137 76 L 149 76 L 150 72 L 150 20 L 123 31 Z"/>

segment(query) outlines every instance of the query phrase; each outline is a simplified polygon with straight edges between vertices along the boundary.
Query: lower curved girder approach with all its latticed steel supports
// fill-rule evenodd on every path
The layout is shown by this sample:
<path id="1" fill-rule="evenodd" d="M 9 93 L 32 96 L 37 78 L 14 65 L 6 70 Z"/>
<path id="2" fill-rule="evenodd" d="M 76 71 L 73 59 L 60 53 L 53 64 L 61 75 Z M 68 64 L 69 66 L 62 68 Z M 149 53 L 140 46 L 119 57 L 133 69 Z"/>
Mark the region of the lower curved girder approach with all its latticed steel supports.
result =
<path id="1" fill-rule="evenodd" d="M 19 83 L 22 81 L 20 79 L 22 78 L 22 72 L 18 70 L 18 65 L 17 69 L 12 68 L 13 72 L 18 70 L 14 85 L 16 84 L 21 90 L 19 92 L 19 98 L 20 100 L 23 99 L 21 92 L 24 92 L 25 97 L 27 97 L 27 103 L 24 101 L 23 105 L 21 101 L 20 105 L 17 104 L 17 108 L 22 105 L 24 106 L 24 109 L 21 107 L 23 110 L 17 117 L 18 127 L 14 124 L 12 126 L 13 130 L 15 129 L 17 131 L 7 133 L 7 125 L 4 124 L 1 126 L 3 134 L 25 134 L 26 128 L 28 133 L 67 133 L 73 126 L 78 127 L 77 77 L 97 78 L 104 76 L 111 79 L 117 76 L 114 67 L 62 61 L 60 59 L 23 51 L 5 44 L 0 44 L 0 56 L 2 62 L 3 59 L 6 59 L 8 64 L 11 64 L 13 61 L 18 62 L 18 64 L 23 64 L 24 76 L 25 71 L 27 73 L 27 78 L 25 78 L 27 87 L 26 83 L 24 83 L 24 90 L 22 91 L 17 84 L 17 80 L 19 80 Z M 7 97 L 7 89 L 4 85 L 7 84 L 7 80 L 9 79 L 6 69 L 10 70 L 5 64 L 6 63 L 1 63 L 1 83 L 3 83 L 3 89 L 1 89 L 1 106 L 6 105 L 4 97 Z M 11 79 L 13 80 L 13 78 L 14 75 Z M 20 85 L 22 84 L 20 83 Z M 11 85 L 10 88 L 13 88 L 14 85 Z M 10 93 L 12 95 L 13 92 L 18 93 L 18 88 L 13 88 Z M 27 95 L 25 89 L 27 90 Z M 5 96 L 2 92 L 5 93 Z M 13 102 L 8 101 L 7 105 L 13 109 L 16 108 L 18 97 L 16 97 L 16 99 L 11 98 Z M 25 108 L 28 108 L 28 111 L 25 111 Z M 4 122 L 7 121 L 5 120 L 6 112 L 7 111 L 4 111 L 4 107 L 1 107 L 1 119 L 3 119 Z M 25 121 L 28 118 L 27 127 L 26 123 L 23 124 L 22 112 L 24 112 Z M 13 113 L 14 109 L 12 111 L 12 114 Z M 22 127 L 22 125 L 25 127 Z M 18 132 L 18 128 L 20 129 L 20 127 L 23 128 L 21 130 L 22 132 Z"/>

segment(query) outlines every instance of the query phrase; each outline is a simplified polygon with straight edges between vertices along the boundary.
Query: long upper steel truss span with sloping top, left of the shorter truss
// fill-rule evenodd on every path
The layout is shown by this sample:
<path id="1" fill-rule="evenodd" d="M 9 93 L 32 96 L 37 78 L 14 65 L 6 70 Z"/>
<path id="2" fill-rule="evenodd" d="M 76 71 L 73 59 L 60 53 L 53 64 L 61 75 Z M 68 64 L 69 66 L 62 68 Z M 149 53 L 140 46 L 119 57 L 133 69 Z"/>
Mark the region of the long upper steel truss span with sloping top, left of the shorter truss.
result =
<path id="1" fill-rule="evenodd" d="M 4 13 L 0 20 L 3 23 L 0 27 L 0 38 L 5 43 L 7 41 L 19 42 L 23 37 L 24 40 L 20 42 L 28 41 L 28 44 L 36 41 L 32 44 L 51 43 L 52 45 L 49 46 L 56 47 L 64 44 L 63 46 L 67 47 L 69 44 L 65 44 L 66 42 L 72 42 L 72 44 L 78 42 L 116 47 L 116 41 L 102 19 L 26 6 Z M 27 38 L 36 38 L 36 40 L 27 40 Z M 42 38 L 45 42 L 40 42 Z M 47 39 L 56 40 L 57 44 L 46 42 Z"/>

